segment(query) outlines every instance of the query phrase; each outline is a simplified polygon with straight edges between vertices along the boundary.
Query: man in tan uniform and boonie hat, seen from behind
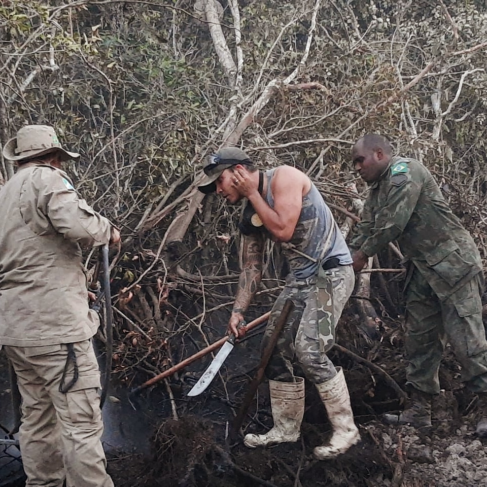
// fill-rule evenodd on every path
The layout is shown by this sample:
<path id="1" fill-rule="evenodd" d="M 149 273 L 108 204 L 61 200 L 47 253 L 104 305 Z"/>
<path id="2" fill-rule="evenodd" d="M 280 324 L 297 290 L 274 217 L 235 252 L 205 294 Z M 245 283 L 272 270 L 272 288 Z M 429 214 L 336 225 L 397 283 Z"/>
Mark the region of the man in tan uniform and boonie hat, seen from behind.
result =
<path id="1" fill-rule="evenodd" d="M 120 240 L 80 199 L 52 127 L 27 125 L 4 147 L 18 171 L 0 190 L 0 347 L 22 396 L 26 486 L 112 487 L 101 445 L 100 373 L 81 246 Z"/>

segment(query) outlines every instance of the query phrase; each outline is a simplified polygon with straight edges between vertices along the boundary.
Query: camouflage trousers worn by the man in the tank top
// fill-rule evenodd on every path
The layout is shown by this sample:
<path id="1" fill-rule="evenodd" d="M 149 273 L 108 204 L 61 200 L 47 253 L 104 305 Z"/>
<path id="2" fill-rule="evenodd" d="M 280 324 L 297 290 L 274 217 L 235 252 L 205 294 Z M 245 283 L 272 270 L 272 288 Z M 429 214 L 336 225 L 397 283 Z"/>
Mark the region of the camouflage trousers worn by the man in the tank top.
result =
<path id="1" fill-rule="evenodd" d="M 320 276 L 305 281 L 297 281 L 292 275 L 287 277 L 286 285 L 272 307 L 262 341 L 263 349 L 287 299 L 293 301 L 294 309 L 266 367 L 267 378 L 294 381 L 295 359 L 313 384 L 322 384 L 336 375 L 326 352 L 335 343 L 335 326 L 354 284 L 352 265 L 321 270 Z"/>

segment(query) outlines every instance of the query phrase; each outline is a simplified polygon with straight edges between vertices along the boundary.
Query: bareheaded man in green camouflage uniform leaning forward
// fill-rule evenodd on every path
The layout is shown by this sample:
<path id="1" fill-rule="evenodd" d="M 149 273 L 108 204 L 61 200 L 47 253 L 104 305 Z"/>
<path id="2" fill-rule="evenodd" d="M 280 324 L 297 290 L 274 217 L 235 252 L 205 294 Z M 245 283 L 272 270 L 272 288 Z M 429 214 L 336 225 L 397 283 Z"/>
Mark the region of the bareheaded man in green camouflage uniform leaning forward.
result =
<path id="1" fill-rule="evenodd" d="M 392 157 L 384 136 L 367 134 L 352 149 L 356 170 L 369 185 L 362 221 L 350 242 L 354 270 L 392 240 L 409 264 L 406 279 L 406 385 L 411 401 L 388 421 L 431 425 L 431 398 L 448 340 L 462 365 L 462 380 L 487 405 L 487 341 L 481 317 L 483 275 L 470 234 L 451 212 L 431 173 L 420 162 Z M 477 425 L 487 436 L 487 418 Z"/>

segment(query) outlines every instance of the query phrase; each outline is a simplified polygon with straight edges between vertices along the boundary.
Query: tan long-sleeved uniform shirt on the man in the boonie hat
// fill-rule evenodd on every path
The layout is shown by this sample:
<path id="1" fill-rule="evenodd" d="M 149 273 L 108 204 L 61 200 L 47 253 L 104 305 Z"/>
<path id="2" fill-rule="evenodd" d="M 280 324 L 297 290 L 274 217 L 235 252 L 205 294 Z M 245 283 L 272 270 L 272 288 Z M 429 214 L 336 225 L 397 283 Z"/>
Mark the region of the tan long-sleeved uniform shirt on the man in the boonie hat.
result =
<path id="1" fill-rule="evenodd" d="M 0 344 L 74 343 L 96 333 L 81 246 L 108 243 L 110 230 L 65 172 L 19 168 L 0 190 Z"/>

